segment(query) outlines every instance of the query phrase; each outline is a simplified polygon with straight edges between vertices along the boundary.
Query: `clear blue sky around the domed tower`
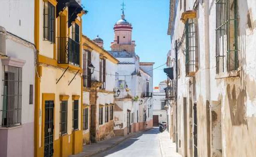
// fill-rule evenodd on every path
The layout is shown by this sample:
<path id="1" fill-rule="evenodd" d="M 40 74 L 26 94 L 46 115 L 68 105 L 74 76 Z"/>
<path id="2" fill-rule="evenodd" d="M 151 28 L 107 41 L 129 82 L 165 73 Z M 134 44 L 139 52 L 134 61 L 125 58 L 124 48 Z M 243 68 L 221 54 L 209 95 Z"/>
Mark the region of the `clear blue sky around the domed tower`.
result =
<path id="1" fill-rule="evenodd" d="M 120 19 L 123 0 L 82 0 L 87 15 L 83 15 L 83 34 L 90 39 L 99 35 L 105 50 L 113 42 L 113 26 Z M 169 0 L 124 0 L 125 19 L 132 23 L 132 40 L 141 62 L 155 62 L 154 67 L 166 63 L 170 49 L 167 35 Z M 165 67 L 165 66 L 164 66 Z M 154 86 L 166 79 L 164 67 L 154 70 Z"/>

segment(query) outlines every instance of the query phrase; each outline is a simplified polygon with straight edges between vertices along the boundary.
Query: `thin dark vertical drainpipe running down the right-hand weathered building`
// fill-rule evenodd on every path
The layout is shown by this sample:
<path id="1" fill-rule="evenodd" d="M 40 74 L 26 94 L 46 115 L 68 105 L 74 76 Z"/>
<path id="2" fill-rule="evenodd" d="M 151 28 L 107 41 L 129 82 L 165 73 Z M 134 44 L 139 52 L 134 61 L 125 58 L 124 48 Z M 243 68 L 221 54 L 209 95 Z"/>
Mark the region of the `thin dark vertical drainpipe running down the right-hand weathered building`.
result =
<path id="1" fill-rule="evenodd" d="M 175 40 L 175 105 L 176 105 L 176 152 L 178 152 L 178 103 L 177 103 L 177 98 L 178 98 L 178 48 L 177 48 L 177 40 Z"/>

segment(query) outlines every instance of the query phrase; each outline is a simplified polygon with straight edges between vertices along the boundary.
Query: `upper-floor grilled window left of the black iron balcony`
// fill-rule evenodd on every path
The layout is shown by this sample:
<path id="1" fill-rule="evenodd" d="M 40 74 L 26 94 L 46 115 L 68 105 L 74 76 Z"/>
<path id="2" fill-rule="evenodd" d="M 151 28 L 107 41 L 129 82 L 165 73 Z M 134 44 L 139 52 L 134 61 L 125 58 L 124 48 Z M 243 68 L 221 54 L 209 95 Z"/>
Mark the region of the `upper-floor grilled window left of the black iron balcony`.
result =
<path id="1" fill-rule="evenodd" d="M 55 43 L 55 7 L 50 2 L 44 4 L 44 40 Z"/>

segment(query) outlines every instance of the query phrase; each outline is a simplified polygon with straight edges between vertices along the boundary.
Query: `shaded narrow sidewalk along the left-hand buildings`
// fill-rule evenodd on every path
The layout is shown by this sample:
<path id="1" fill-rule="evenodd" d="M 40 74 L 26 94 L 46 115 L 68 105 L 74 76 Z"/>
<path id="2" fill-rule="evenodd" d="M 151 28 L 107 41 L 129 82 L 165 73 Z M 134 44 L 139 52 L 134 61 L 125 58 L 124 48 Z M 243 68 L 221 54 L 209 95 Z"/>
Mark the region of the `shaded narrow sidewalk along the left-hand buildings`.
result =
<path id="1" fill-rule="evenodd" d="M 109 138 L 97 143 L 92 143 L 90 145 L 83 146 L 83 152 L 76 154 L 76 155 L 70 155 L 69 157 L 91 157 L 95 154 L 101 153 L 105 150 L 108 150 L 110 148 L 113 148 L 114 146 L 118 145 L 120 142 L 123 142 L 127 138 L 130 138 L 132 136 L 138 135 L 143 131 L 138 131 L 136 133 L 132 133 L 126 136 L 116 136 L 113 138 Z"/>

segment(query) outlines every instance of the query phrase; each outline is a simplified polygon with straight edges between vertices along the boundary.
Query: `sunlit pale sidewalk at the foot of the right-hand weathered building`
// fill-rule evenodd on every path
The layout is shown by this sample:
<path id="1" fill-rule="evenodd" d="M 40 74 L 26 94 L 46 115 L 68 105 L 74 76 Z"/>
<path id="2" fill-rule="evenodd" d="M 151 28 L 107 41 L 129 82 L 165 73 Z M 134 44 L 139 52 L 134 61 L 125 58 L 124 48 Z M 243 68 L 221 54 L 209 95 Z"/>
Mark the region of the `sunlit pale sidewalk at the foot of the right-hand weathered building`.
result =
<path id="1" fill-rule="evenodd" d="M 176 144 L 171 141 L 169 132 L 164 131 L 159 137 L 162 157 L 182 157 L 179 153 L 176 153 Z"/>

